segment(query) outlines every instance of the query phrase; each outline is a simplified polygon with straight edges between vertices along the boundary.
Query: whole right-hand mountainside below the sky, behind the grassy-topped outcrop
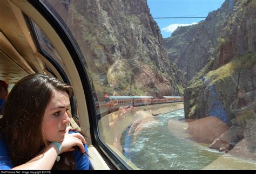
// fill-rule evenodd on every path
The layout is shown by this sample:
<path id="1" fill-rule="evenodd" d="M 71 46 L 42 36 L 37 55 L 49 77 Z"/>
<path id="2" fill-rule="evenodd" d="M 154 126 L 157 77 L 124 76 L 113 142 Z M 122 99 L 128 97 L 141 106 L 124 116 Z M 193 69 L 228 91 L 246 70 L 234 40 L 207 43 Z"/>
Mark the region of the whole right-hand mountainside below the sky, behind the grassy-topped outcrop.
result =
<path id="1" fill-rule="evenodd" d="M 234 57 L 255 51 L 255 1 L 226 0 L 221 8 L 210 12 L 205 20 L 192 26 L 181 26 L 164 39 L 170 60 L 190 81 L 215 59 L 217 69 Z"/>

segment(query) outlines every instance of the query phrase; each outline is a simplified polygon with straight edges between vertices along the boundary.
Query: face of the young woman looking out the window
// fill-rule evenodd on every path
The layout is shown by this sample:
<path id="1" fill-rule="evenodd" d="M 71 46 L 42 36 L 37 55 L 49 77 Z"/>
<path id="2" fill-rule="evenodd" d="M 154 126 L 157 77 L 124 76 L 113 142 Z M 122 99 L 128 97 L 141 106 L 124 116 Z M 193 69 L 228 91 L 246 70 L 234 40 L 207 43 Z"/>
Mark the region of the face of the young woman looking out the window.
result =
<path id="1" fill-rule="evenodd" d="M 43 117 L 43 134 L 49 142 L 62 142 L 70 122 L 67 110 L 70 107 L 69 95 L 63 91 L 53 92 Z"/>

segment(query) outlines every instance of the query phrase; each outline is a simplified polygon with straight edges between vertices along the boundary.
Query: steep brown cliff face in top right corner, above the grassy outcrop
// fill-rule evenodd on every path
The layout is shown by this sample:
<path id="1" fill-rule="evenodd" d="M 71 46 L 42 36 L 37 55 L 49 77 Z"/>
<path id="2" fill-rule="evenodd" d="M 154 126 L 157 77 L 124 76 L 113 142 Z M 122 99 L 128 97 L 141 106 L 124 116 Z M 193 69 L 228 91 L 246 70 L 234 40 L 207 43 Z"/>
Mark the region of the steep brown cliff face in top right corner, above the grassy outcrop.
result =
<path id="1" fill-rule="evenodd" d="M 227 2 L 227 1 L 226 1 Z M 219 45 L 214 69 L 217 69 L 235 57 L 255 52 L 256 41 L 256 3 L 255 1 L 229 1 L 230 8 L 225 26 L 219 35 Z M 221 40 L 221 41 L 220 41 Z"/>

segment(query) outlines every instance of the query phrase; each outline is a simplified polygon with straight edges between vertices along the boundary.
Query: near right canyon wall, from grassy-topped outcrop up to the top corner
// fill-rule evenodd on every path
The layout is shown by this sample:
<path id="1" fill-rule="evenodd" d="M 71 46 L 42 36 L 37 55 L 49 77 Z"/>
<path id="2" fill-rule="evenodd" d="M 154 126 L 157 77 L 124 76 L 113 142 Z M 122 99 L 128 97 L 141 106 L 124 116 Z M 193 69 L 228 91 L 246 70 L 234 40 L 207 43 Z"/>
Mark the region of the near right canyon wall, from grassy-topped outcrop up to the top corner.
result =
<path id="1" fill-rule="evenodd" d="M 230 124 L 232 102 L 256 89 L 256 1 L 225 1 L 218 11 L 226 11 L 223 29 L 184 91 L 184 108 L 186 118 L 216 116 Z"/>

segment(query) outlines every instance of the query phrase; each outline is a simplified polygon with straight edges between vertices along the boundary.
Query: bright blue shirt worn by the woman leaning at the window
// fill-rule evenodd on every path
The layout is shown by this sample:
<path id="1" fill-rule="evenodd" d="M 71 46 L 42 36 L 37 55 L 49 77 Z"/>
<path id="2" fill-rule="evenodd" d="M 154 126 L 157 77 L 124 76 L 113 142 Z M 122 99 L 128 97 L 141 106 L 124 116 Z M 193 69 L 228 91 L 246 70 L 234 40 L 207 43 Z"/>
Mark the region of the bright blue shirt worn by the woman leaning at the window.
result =
<path id="1" fill-rule="evenodd" d="M 75 133 L 70 131 L 69 134 Z M 84 145 L 84 149 L 88 154 L 87 145 Z M 80 150 L 73 151 L 73 157 L 76 161 L 77 170 L 89 170 L 90 169 L 90 161 L 89 157 L 86 154 L 82 154 Z M 14 165 L 11 163 L 11 159 L 8 155 L 8 149 L 5 143 L 2 140 L 2 136 L 0 135 L 0 170 L 10 170 L 14 168 Z"/>

